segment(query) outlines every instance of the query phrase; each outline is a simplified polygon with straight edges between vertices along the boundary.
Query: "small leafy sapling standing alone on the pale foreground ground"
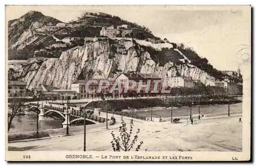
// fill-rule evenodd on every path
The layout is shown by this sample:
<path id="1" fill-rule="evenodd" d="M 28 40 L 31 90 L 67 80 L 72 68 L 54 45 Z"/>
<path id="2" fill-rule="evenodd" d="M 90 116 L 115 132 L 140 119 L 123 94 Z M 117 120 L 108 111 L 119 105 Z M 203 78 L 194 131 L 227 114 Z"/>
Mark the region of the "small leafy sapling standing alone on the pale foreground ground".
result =
<path id="1" fill-rule="evenodd" d="M 138 139 L 138 133 L 140 132 L 140 129 L 137 130 L 134 139 L 131 140 L 131 134 L 133 132 L 133 120 L 130 122 L 130 131 L 127 132 L 126 123 L 124 122 L 123 118 L 121 118 L 121 126 L 119 128 L 119 136 L 115 136 L 114 131 L 111 132 L 111 135 L 113 137 L 113 140 L 111 142 L 112 148 L 114 151 L 120 152 L 120 150 L 123 151 L 130 151 L 134 144 L 137 142 Z M 120 143 L 121 142 L 121 143 Z M 141 141 L 138 145 L 135 151 L 139 151 L 140 146 L 143 144 Z"/>

